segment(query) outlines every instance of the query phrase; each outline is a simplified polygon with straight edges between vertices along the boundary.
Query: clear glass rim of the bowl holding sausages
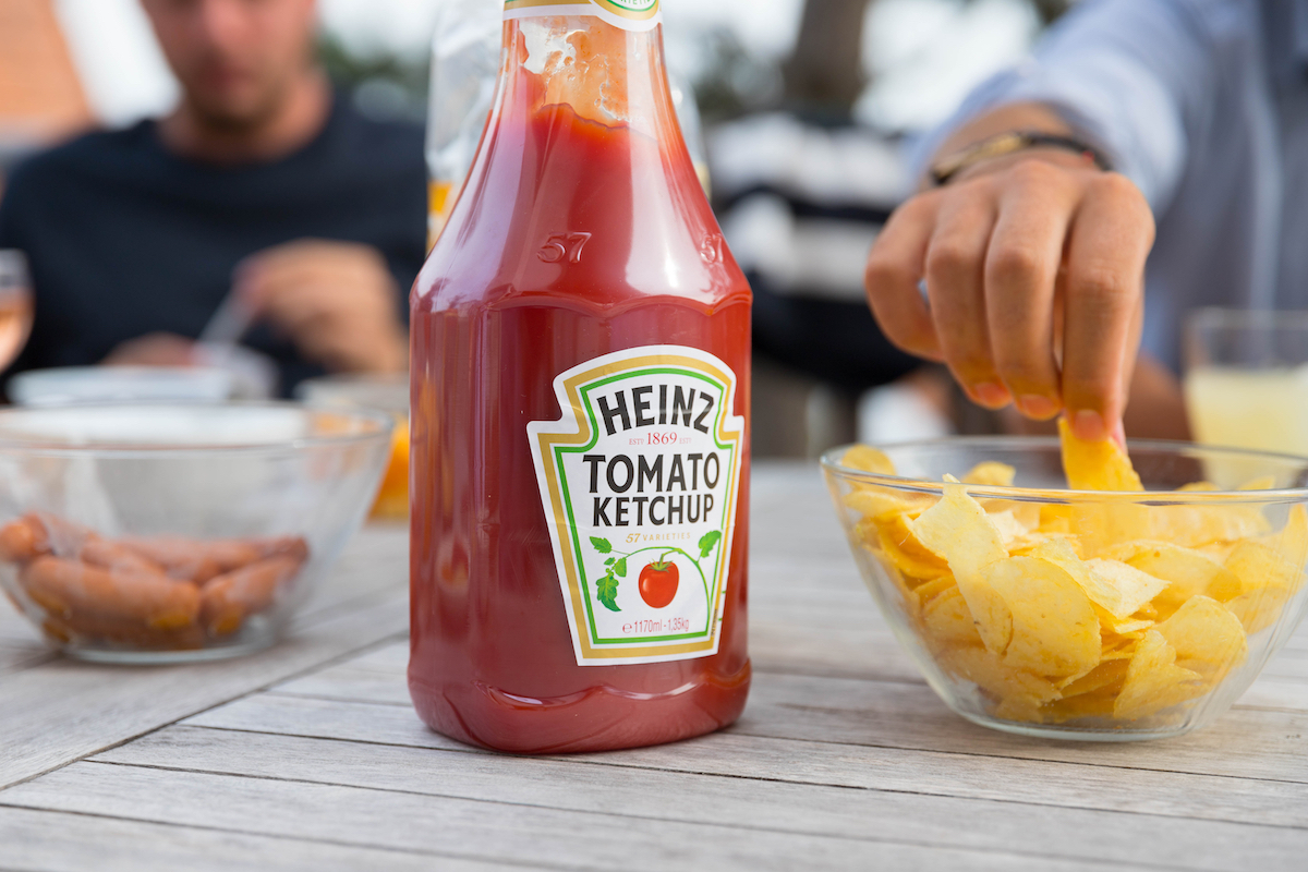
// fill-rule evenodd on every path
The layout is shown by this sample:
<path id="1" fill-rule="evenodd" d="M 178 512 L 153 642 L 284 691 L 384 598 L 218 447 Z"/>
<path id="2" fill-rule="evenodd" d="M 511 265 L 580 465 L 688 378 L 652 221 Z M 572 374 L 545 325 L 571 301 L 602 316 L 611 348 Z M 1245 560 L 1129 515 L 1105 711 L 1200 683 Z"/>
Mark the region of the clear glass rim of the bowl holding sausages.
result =
<path id="1" fill-rule="evenodd" d="M 42 458 L 69 458 L 69 456 L 102 456 L 122 459 L 141 458 L 195 458 L 205 455 L 224 454 L 297 454 L 305 448 L 320 446 L 348 446 L 368 442 L 390 443 L 395 429 L 395 418 L 386 412 L 364 408 L 337 408 L 322 404 L 294 403 L 290 400 L 226 400 L 221 403 L 205 401 L 177 401 L 177 400 L 110 400 L 105 403 L 75 403 L 67 405 L 24 405 L 0 408 L 0 429 L 5 418 L 26 416 L 52 416 L 95 413 L 115 409 L 196 409 L 212 413 L 221 409 L 281 409 L 303 414 L 332 414 L 337 417 L 351 417 L 370 421 L 377 426 L 370 433 L 327 434 L 301 437 L 296 439 L 280 441 L 250 441 L 250 442 L 211 442 L 211 443 L 98 443 L 98 444 L 51 444 L 34 439 L 18 439 L 5 437 L 0 433 L 0 454 L 17 454 Z"/>

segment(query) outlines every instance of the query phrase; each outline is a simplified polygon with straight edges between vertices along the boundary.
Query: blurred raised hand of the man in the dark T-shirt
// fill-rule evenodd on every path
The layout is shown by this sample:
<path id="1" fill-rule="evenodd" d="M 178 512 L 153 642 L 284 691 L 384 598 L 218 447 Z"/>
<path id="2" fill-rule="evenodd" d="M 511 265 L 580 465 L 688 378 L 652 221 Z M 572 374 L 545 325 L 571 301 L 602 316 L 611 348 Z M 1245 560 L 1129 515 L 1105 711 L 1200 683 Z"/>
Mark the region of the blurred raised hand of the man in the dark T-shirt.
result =
<path id="1" fill-rule="evenodd" d="M 297 239 L 266 248 L 237 268 L 235 292 L 301 354 L 330 370 L 396 373 L 408 366 L 395 280 L 371 246 Z"/>

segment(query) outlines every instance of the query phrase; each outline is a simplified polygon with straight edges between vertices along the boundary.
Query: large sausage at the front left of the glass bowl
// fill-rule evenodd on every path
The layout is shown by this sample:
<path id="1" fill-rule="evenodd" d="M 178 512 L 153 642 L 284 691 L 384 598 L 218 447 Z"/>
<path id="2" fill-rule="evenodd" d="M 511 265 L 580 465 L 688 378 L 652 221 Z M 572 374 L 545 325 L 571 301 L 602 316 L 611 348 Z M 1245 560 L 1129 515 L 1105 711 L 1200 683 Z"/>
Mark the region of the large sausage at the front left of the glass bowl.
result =
<path id="1" fill-rule="evenodd" d="M 200 591 L 156 573 L 110 571 L 63 557 L 38 557 L 20 583 L 52 617 L 103 618 L 143 629 L 177 630 L 200 612 Z"/>

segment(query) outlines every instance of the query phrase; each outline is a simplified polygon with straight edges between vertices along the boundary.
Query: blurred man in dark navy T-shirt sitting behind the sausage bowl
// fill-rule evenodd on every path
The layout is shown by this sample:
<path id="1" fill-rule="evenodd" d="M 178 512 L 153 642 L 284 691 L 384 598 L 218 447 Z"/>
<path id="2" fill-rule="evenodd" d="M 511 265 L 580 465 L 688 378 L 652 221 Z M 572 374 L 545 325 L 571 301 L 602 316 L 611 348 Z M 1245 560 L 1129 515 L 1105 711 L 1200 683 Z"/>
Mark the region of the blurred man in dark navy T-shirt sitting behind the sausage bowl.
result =
<path id="1" fill-rule="evenodd" d="M 407 366 L 425 252 L 419 126 L 365 119 L 314 55 L 314 0 L 141 0 L 182 98 L 21 163 L 0 248 L 27 252 L 18 369 L 186 365 L 229 293 L 281 387 Z"/>

